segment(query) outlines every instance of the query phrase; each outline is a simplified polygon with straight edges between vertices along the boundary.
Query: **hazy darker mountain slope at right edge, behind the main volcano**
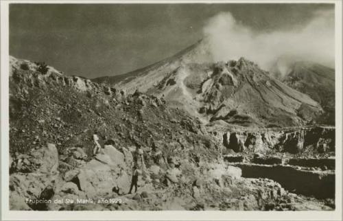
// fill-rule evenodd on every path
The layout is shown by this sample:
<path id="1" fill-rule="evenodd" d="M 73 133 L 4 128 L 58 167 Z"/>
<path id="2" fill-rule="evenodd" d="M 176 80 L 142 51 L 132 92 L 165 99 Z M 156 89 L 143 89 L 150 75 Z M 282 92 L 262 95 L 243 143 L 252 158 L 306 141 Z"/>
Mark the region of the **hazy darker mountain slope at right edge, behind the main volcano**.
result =
<path id="1" fill-rule="evenodd" d="M 319 102 L 324 109 L 320 122 L 335 125 L 335 69 L 314 62 L 281 58 L 270 73 Z"/>

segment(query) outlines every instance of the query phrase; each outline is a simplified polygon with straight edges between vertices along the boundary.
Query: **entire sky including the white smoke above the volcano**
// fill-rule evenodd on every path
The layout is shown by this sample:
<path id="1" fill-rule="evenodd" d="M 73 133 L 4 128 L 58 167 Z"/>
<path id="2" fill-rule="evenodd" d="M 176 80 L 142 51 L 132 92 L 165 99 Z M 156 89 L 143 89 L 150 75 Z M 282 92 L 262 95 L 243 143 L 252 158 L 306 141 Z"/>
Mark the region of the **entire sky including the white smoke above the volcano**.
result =
<path id="1" fill-rule="evenodd" d="M 96 78 L 151 65 L 206 35 L 215 60 L 242 54 L 263 66 L 292 52 L 329 64 L 333 12 L 315 3 L 11 4 L 10 55 Z"/>

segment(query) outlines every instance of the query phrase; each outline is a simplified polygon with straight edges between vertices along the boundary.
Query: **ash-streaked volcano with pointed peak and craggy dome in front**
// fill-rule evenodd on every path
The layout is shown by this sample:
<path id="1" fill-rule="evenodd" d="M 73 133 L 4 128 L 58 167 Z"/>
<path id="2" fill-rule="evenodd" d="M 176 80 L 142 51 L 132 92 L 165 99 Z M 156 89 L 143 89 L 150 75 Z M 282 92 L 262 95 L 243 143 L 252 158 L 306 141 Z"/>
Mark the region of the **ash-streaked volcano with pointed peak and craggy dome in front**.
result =
<path id="1" fill-rule="evenodd" d="M 205 122 L 253 127 L 316 123 L 322 112 L 318 102 L 270 78 L 244 58 L 213 63 L 207 49 L 202 40 L 176 56 L 132 72 L 134 75 L 129 73 L 126 80 L 113 76 L 96 81 L 163 96 L 169 105 L 182 107 Z"/>

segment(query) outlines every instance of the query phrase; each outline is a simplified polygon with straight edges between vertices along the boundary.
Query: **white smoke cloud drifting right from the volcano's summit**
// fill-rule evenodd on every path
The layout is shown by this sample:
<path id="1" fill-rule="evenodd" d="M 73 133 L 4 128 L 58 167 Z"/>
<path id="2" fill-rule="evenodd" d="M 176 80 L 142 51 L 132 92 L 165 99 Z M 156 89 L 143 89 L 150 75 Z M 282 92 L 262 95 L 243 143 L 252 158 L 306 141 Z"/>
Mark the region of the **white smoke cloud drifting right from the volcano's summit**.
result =
<path id="1" fill-rule="evenodd" d="M 281 56 L 334 67 L 334 12 L 314 12 L 314 19 L 294 30 L 256 33 L 237 23 L 230 12 L 213 16 L 204 27 L 215 61 L 248 58 L 263 68 Z"/>

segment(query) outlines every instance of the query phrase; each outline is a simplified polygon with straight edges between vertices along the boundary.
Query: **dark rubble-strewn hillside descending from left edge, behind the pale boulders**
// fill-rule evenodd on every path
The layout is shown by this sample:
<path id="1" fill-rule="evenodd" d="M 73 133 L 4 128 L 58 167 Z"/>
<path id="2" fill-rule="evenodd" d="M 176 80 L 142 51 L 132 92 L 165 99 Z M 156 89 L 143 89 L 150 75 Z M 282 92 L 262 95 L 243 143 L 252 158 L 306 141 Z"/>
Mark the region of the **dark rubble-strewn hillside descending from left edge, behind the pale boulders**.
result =
<path id="1" fill-rule="evenodd" d="M 110 139 L 124 146 L 176 142 L 177 148 L 180 142 L 186 142 L 184 146 L 202 142 L 199 122 L 181 110 L 167 110 L 163 99 L 141 93 L 126 95 L 50 67 L 41 73 L 33 62 L 10 60 L 12 154 L 29 152 L 45 142 L 55 143 L 61 152 L 72 146 L 91 152 L 95 130 L 102 144 Z M 205 137 L 206 146 L 213 145 Z"/>

